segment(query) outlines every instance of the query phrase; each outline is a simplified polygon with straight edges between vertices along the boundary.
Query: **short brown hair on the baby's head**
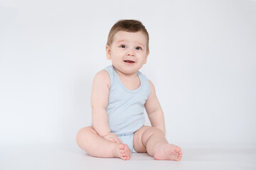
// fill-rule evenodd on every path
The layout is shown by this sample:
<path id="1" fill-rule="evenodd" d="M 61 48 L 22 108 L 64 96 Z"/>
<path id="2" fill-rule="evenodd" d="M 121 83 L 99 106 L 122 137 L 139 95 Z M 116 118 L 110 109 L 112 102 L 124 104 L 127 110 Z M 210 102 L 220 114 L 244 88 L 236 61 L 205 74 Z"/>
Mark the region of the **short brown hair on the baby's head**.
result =
<path id="1" fill-rule="evenodd" d="M 120 30 L 127 31 L 130 33 L 137 33 L 142 31 L 146 35 L 146 52 L 149 52 L 149 33 L 147 32 L 145 26 L 142 22 L 137 20 L 120 20 L 112 26 L 110 33 L 107 37 L 107 45 L 111 46 L 113 42 L 114 35 Z"/>

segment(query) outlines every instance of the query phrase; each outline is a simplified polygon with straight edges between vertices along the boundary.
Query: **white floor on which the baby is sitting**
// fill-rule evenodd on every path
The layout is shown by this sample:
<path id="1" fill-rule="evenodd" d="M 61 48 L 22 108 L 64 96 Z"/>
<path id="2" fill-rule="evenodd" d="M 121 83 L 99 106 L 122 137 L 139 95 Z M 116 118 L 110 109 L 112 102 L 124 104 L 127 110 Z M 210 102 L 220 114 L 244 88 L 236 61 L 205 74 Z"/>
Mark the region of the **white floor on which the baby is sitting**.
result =
<path id="1" fill-rule="evenodd" d="M 183 149 L 181 162 L 133 154 L 129 161 L 90 157 L 78 147 L 0 147 L 0 169 L 256 169 L 256 149 Z"/>

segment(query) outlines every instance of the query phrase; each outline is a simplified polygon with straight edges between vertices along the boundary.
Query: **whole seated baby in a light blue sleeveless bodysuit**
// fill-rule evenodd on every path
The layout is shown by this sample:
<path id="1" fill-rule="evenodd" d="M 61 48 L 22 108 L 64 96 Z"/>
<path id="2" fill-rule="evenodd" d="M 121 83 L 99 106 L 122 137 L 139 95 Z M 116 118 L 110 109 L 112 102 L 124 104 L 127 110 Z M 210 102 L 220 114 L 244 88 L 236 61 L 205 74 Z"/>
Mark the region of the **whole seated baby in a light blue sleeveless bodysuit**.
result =
<path id="1" fill-rule="evenodd" d="M 149 55 L 146 28 L 140 21 L 118 21 L 108 35 L 106 54 L 112 65 L 95 75 L 92 126 L 78 132 L 78 145 L 92 157 L 129 160 L 139 152 L 158 160 L 181 160 L 181 148 L 166 140 L 154 85 L 139 72 Z M 152 127 L 144 125 L 144 109 Z"/>

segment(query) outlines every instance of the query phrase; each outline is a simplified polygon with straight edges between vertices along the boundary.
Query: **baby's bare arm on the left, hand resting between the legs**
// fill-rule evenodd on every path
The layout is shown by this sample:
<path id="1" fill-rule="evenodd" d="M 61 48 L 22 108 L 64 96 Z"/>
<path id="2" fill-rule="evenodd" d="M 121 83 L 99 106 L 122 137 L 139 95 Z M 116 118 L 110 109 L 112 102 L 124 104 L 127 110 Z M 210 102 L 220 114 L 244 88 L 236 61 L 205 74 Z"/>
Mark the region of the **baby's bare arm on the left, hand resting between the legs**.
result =
<path id="1" fill-rule="evenodd" d="M 92 127 L 100 137 L 112 142 L 122 143 L 122 141 L 111 133 L 107 118 L 107 105 L 110 92 L 110 76 L 107 71 L 102 70 L 95 75 L 92 83 Z"/>

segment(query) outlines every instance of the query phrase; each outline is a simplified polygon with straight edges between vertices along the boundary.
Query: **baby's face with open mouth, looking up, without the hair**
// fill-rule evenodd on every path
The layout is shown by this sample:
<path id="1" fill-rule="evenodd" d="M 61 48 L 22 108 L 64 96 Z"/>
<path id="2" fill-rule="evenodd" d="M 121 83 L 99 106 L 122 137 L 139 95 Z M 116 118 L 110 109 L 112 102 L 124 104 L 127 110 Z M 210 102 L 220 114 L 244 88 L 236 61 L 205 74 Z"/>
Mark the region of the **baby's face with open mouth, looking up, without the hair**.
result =
<path id="1" fill-rule="evenodd" d="M 119 31 L 114 35 L 111 46 L 106 47 L 107 59 L 112 60 L 115 69 L 124 74 L 137 73 L 146 64 L 149 52 L 146 49 L 146 35 L 142 32 Z"/>

